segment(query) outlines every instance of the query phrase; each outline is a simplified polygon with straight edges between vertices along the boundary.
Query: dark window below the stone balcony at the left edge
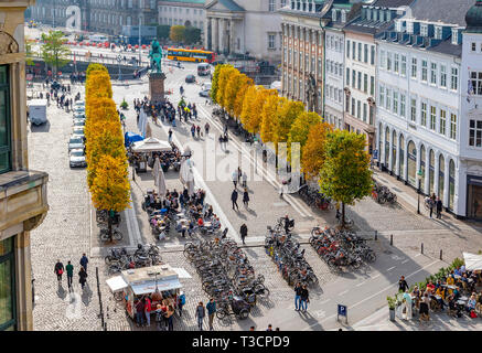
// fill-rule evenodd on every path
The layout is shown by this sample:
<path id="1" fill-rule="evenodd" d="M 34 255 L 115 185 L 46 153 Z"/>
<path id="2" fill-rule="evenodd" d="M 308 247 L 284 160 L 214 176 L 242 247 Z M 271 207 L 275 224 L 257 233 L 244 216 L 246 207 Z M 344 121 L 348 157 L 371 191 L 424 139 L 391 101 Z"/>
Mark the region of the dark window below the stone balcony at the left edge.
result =
<path id="1" fill-rule="evenodd" d="M 0 330 L 15 330 L 15 261 L 13 237 L 0 240 Z"/>

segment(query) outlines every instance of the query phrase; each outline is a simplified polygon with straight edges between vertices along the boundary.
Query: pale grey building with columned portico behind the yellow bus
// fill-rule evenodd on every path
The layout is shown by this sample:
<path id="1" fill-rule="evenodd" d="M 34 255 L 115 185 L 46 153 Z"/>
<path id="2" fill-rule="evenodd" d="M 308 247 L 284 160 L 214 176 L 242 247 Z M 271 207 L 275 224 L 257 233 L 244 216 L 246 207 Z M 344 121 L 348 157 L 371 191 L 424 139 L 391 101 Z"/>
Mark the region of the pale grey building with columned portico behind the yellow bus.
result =
<path id="1" fill-rule="evenodd" d="M 224 55 L 248 54 L 257 60 L 281 60 L 281 17 L 287 0 L 207 0 L 205 47 Z"/>

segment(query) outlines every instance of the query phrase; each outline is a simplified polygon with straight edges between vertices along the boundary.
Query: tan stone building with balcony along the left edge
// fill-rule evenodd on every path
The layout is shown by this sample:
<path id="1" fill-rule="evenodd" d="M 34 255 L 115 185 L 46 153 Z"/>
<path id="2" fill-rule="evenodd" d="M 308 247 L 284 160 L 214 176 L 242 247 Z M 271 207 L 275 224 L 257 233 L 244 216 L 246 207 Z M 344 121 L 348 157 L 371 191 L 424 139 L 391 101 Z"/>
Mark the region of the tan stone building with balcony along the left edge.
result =
<path id="1" fill-rule="evenodd" d="M 24 17 L 0 2 L 0 331 L 32 330 L 30 231 L 49 210 L 47 174 L 29 170 Z"/>

